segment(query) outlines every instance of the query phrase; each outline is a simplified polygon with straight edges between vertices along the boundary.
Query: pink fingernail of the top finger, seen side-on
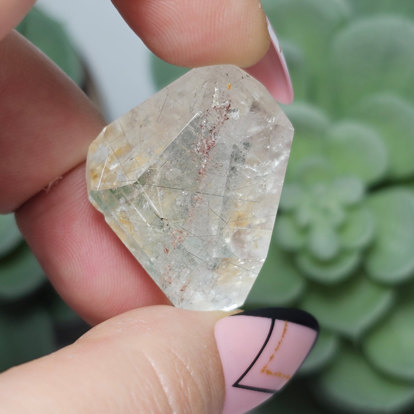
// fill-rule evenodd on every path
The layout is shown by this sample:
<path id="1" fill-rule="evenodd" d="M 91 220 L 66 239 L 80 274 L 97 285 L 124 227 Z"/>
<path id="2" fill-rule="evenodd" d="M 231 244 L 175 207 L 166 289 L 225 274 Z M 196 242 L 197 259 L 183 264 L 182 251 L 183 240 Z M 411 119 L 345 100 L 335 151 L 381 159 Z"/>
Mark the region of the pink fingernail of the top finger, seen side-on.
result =
<path id="1" fill-rule="evenodd" d="M 267 17 L 266 19 L 270 48 L 262 60 L 245 70 L 267 88 L 275 101 L 290 104 L 293 101 L 293 87 L 289 70 L 273 26 Z"/>

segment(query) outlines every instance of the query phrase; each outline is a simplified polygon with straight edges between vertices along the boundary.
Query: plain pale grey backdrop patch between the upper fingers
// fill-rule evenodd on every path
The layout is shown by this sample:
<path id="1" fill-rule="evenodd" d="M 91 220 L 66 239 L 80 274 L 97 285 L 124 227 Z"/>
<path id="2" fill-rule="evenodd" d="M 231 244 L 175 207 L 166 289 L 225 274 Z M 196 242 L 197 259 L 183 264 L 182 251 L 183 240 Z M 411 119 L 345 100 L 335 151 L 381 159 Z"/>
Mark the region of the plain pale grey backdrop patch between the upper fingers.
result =
<path id="1" fill-rule="evenodd" d="M 110 0 L 38 0 L 37 6 L 65 26 L 92 72 L 108 121 L 155 92 L 150 52 Z"/>

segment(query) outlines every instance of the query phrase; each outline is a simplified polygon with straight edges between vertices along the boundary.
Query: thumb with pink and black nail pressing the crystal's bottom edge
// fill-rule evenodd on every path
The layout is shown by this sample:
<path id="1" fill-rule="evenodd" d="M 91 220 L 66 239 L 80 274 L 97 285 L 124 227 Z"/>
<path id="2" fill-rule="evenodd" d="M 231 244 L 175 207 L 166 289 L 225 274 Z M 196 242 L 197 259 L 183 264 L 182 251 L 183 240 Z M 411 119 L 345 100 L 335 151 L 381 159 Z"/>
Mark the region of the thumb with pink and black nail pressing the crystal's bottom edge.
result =
<path id="1" fill-rule="evenodd" d="M 1 374 L 2 409 L 244 413 L 293 375 L 318 327 L 294 309 L 227 315 L 152 306 L 116 316 L 75 344 Z"/>

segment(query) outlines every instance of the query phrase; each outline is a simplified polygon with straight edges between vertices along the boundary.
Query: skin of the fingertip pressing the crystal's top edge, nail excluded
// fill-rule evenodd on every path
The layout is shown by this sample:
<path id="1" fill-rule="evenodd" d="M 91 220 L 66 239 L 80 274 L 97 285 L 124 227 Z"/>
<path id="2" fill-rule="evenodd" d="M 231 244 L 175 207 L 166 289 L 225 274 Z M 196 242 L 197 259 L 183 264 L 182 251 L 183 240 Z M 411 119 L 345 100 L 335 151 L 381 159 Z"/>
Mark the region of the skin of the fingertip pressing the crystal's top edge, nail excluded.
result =
<path id="1" fill-rule="evenodd" d="M 249 67 L 270 46 L 259 0 L 113 0 L 148 48 L 169 63 Z"/>

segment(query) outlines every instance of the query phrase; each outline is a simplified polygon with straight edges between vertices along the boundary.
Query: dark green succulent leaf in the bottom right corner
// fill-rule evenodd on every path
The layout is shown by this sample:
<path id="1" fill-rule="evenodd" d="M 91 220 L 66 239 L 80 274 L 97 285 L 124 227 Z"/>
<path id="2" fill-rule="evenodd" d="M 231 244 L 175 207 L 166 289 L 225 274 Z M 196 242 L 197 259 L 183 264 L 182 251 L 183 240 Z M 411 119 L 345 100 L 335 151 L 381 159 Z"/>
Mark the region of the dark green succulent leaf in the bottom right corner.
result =
<path id="1" fill-rule="evenodd" d="M 414 385 L 376 373 L 349 347 L 320 375 L 316 390 L 341 412 L 397 414 L 414 403 Z"/>

